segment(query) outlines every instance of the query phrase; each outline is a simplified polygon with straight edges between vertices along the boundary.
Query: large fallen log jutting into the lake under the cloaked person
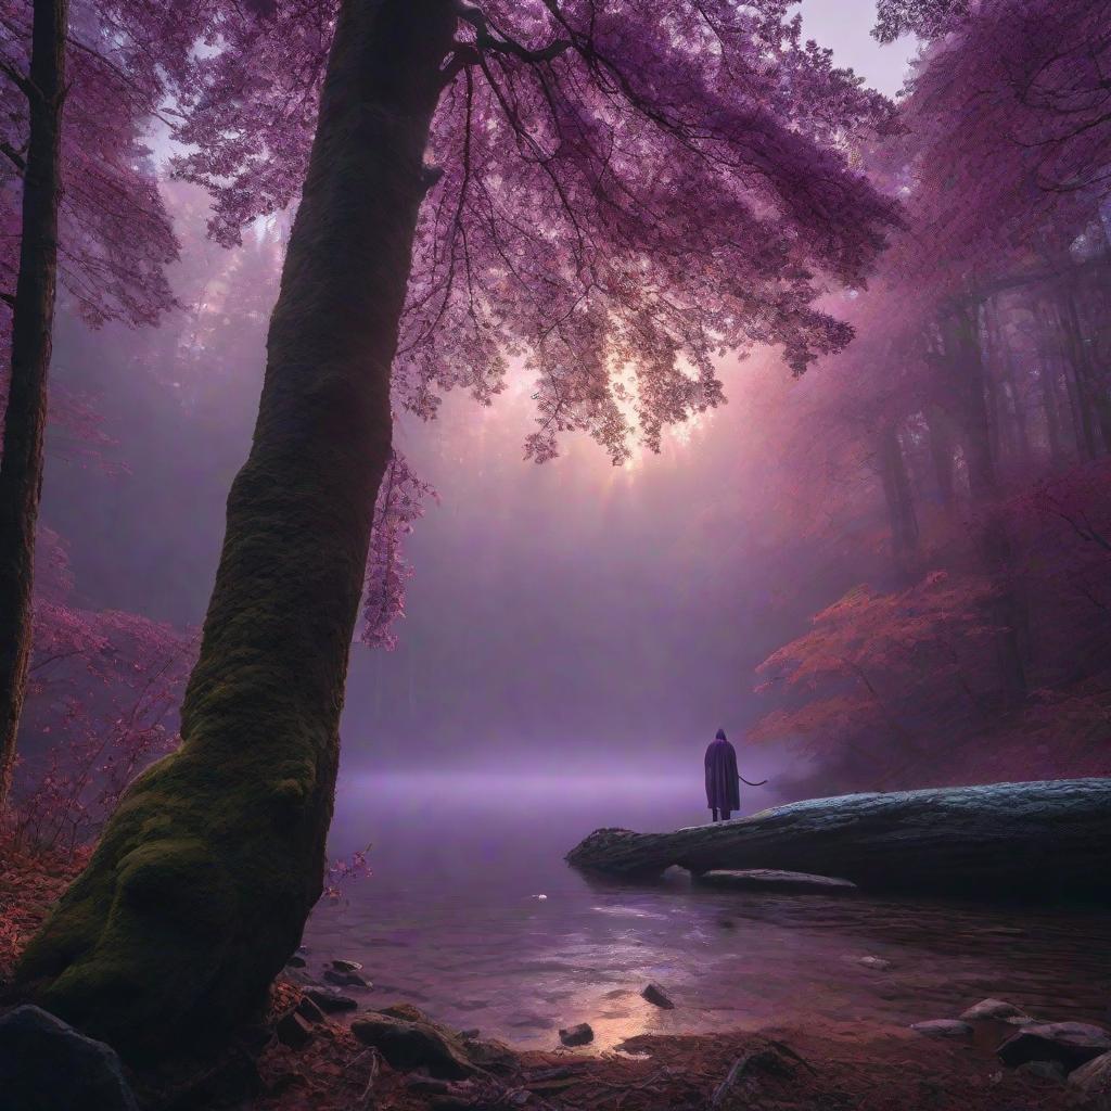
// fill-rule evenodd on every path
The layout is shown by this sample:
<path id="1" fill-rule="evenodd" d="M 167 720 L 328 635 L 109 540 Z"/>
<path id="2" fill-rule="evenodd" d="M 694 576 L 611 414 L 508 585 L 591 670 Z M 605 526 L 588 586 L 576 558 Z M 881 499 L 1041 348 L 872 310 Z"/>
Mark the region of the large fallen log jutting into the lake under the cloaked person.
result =
<path id="1" fill-rule="evenodd" d="M 630 877 L 678 864 L 774 868 L 872 891 L 1111 901 L 1111 779 L 811 799 L 673 833 L 595 830 L 577 868 Z"/>

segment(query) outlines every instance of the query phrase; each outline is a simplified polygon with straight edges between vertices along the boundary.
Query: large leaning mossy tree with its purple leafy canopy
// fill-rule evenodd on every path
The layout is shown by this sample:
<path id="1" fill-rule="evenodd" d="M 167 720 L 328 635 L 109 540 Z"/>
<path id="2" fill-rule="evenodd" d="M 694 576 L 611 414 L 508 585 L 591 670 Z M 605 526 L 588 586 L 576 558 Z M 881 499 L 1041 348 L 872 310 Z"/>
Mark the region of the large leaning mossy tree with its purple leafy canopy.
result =
<path id="1" fill-rule="evenodd" d="M 223 1035 L 297 947 L 393 408 L 520 363 L 528 454 L 583 430 L 620 461 L 721 400 L 717 356 L 848 342 L 813 302 L 894 218 L 850 167 L 887 107 L 787 7 L 227 4 L 178 169 L 224 240 L 300 186 L 258 424 L 183 744 L 29 945 L 33 998 L 141 1060 Z"/>

